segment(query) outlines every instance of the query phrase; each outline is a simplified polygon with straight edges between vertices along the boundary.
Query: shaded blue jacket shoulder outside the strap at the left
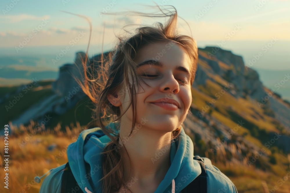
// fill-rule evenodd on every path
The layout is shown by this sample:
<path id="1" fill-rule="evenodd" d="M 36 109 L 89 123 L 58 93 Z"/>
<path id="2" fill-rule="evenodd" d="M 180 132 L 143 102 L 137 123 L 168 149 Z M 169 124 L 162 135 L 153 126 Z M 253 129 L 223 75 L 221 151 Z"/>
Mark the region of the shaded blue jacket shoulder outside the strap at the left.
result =
<path id="1" fill-rule="evenodd" d="M 61 193 L 61 177 L 66 164 L 54 168 L 41 184 L 39 193 Z"/>

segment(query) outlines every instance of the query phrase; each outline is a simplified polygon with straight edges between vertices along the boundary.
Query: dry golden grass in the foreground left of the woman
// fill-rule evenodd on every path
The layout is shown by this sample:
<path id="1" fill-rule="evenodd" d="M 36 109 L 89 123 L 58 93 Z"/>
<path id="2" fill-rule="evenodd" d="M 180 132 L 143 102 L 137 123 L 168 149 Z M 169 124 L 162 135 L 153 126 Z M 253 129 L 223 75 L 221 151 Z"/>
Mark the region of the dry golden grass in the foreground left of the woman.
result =
<path id="1" fill-rule="evenodd" d="M 17 129 L 18 128 L 14 128 Z M 39 192 L 41 183 L 35 183 L 35 176 L 42 176 L 51 168 L 58 167 L 68 161 L 66 149 L 78 137 L 79 128 L 73 128 L 70 135 L 55 130 L 42 131 L 33 135 L 29 128 L 22 128 L 22 133 L 9 134 L 9 189 L 0 187 L 0 192 Z M 1 141 L 4 141 L 1 137 Z M 48 150 L 48 147 L 55 145 L 55 149 Z M 4 146 L 0 147 L 0 152 L 4 152 Z M 0 178 L 3 179 L 5 173 L 3 167 L 3 155 L 1 156 Z"/>

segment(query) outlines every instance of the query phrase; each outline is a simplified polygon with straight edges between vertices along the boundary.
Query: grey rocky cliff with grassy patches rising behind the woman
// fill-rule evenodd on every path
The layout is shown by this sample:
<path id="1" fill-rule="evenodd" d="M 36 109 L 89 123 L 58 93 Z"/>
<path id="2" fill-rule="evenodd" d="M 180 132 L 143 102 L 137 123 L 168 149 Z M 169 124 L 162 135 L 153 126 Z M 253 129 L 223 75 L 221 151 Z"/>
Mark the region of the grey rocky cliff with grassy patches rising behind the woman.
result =
<path id="1" fill-rule="evenodd" d="M 105 57 L 107 54 L 104 54 Z M 184 122 L 186 131 L 205 146 L 218 144 L 226 137 L 226 143 L 244 144 L 258 151 L 267 138 L 279 132 L 286 138 L 280 140 L 278 146 L 283 148 L 287 145 L 289 103 L 281 100 L 275 92 L 271 94 L 259 80 L 258 73 L 245 67 L 241 56 L 216 47 L 200 48 L 198 54 L 198 68 L 192 87 L 192 114 Z M 12 124 L 41 121 L 49 113 L 63 115 L 85 98 L 72 77 L 82 79 L 84 69 L 81 61 L 84 57 L 85 54 L 79 52 L 75 64 L 60 67 L 58 79 L 52 83 L 53 94 L 23 111 L 12 120 Z M 100 55 L 93 56 L 86 65 L 93 67 L 94 63 L 96 69 L 99 59 Z M 54 119 L 57 120 L 57 116 Z M 260 144 L 253 143 L 256 139 Z M 289 148 L 284 150 L 289 151 Z"/>

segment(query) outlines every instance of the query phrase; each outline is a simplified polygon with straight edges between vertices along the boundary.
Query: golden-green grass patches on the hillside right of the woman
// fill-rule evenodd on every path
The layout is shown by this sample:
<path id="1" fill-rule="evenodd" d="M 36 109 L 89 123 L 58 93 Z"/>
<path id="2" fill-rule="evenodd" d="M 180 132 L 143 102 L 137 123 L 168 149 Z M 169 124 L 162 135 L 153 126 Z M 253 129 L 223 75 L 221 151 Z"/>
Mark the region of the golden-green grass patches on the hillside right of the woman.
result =
<path id="1" fill-rule="evenodd" d="M 215 93 L 218 93 L 218 91 L 221 91 L 222 89 L 223 87 L 219 84 L 208 81 L 206 86 L 199 87 L 199 90 L 193 90 L 193 104 L 199 111 L 202 111 L 202 109 L 207 105 L 206 102 L 211 102 L 212 99 L 215 99 L 215 108 L 211 107 L 211 116 L 215 117 L 231 129 L 237 126 L 237 122 L 233 121 L 235 120 L 233 114 L 239 118 L 237 120 L 242 119 L 249 122 L 249 124 L 245 124 L 239 128 L 236 133 L 238 135 L 244 134 L 246 140 L 261 149 L 264 148 L 266 150 L 265 153 L 271 155 L 272 153 L 270 150 L 274 148 L 275 145 L 271 146 L 270 149 L 267 149 L 263 145 L 264 142 L 262 142 L 262 139 L 258 139 L 251 135 L 251 126 L 256 126 L 258 132 L 260 132 L 261 129 L 264 129 L 267 132 L 279 132 L 279 130 L 276 129 L 275 124 L 273 124 L 273 119 L 264 115 L 262 109 L 251 104 L 246 99 L 235 99 L 229 93 L 225 93 L 217 99 Z M 216 109 L 218 109 L 218 111 Z M 231 109 L 231 113 L 227 111 L 229 109 Z M 209 110 L 207 113 L 209 113 Z M 245 133 L 247 135 L 245 135 Z M 209 150 L 209 148 L 210 147 L 208 147 L 207 150 Z M 226 152 L 226 154 L 231 159 L 231 153 Z M 239 165 L 231 161 L 229 161 L 226 166 L 220 162 L 213 163 L 234 182 L 239 192 L 263 193 L 262 181 L 266 181 L 268 188 L 271 189 L 277 185 L 279 189 L 276 190 L 276 192 L 289 192 L 290 180 L 283 183 L 282 186 L 278 184 L 278 180 L 283 178 L 290 168 L 289 159 L 287 159 L 287 155 L 283 154 L 281 151 L 273 153 L 273 156 L 276 158 L 276 164 L 269 163 L 269 159 L 264 160 L 260 158 L 259 160 L 265 162 L 265 166 L 269 166 L 268 169 L 254 169 L 253 166 L 249 167 L 242 164 Z"/>

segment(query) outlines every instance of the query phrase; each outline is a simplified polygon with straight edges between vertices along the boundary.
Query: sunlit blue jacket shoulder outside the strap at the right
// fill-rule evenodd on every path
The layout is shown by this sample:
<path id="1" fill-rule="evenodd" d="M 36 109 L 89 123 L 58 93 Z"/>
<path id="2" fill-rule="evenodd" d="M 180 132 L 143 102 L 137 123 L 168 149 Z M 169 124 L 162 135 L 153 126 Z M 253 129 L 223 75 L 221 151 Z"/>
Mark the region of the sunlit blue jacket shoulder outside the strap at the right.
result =
<path id="1" fill-rule="evenodd" d="M 204 159 L 207 174 L 207 192 L 238 193 L 234 183 L 217 167 L 213 166 L 210 159 L 206 157 L 202 157 L 202 159 Z"/>

